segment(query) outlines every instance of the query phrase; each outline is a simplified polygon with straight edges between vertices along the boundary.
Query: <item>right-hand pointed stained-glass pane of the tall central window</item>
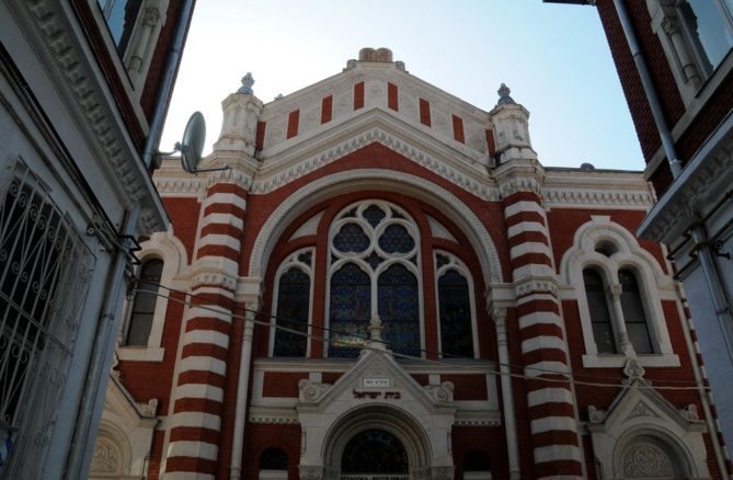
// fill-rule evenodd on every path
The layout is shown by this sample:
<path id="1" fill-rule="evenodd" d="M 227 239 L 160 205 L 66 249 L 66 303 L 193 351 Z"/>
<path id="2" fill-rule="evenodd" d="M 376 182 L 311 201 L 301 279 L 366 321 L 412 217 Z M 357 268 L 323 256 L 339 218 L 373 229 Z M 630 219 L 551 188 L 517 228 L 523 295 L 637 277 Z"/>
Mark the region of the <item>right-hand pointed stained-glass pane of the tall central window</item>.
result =
<path id="1" fill-rule="evenodd" d="M 379 318 L 382 338 L 397 353 L 420 356 L 420 309 L 417 278 L 403 265 L 394 264 L 379 275 Z"/>

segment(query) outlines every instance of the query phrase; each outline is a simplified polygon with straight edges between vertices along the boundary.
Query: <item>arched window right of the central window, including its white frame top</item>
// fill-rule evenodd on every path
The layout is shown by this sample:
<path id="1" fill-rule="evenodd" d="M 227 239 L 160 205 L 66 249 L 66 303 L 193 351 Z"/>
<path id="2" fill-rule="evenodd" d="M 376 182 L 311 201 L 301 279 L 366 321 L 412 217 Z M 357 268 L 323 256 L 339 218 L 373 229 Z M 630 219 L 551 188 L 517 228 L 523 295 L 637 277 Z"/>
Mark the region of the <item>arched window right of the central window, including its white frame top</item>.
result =
<path id="1" fill-rule="evenodd" d="M 456 258 L 435 254 L 440 352 L 444 357 L 476 355 L 476 325 L 470 276 Z"/>

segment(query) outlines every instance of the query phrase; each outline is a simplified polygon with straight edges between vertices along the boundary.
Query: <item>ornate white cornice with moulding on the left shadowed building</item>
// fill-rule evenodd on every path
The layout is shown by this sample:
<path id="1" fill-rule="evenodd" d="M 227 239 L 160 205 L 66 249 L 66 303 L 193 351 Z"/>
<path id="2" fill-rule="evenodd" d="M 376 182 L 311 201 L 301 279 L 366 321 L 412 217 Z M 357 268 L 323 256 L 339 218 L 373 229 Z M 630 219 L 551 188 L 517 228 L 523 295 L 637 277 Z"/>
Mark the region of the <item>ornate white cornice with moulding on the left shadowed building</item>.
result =
<path id="1" fill-rule="evenodd" d="M 142 204 L 140 224 L 147 231 L 160 230 L 165 222 L 162 204 L 126 132 L 102 73 L 87 46 L 75 31 L 75 14 L 66 2 L 36 0 L 10 2 L 8 7 L 24 25 L 49 77 L 59 91 L 77 126 L 90 138 L 100 168 L 126 197 L 128 205 Z"/>

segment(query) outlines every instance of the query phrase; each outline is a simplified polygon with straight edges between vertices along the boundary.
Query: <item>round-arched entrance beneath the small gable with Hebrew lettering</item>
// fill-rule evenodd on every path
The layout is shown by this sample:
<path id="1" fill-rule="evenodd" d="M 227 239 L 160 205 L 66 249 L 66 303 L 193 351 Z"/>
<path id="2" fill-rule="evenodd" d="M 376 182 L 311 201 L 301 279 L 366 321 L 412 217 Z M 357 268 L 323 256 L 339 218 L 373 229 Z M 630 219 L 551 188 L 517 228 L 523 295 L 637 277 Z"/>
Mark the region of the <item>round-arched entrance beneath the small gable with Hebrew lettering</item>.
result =
<path id="1" fill-rule="evenodd" d="M 354 464 L 359 461 L 354 450 L 359 445 L 374 452 L 381 448 L 392 456 L 390 470 L 401 471 L 366 471 L 379 467 Z M 355 409 L 331 427 L 323 445 L 323 465 L 330 479 L 364 479 L 370 473 L 380 479 L 425 479 L 430 478 L 431 452 L 427 434 L 409 414 L 389 405 L 369 405 Z"/>

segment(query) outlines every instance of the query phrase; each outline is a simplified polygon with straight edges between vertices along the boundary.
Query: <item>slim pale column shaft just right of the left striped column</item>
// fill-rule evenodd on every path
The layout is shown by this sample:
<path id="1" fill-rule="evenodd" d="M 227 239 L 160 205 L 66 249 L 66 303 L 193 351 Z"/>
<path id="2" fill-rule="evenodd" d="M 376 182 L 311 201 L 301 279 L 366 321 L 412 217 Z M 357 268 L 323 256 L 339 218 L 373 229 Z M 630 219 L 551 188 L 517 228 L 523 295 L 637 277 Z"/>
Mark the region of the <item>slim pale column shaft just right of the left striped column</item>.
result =
<path id="1" fill-rule="evenodd" d="M 231 466 L 229 479 L 242 478 L 242 449 L 244 446 L 244 423 L 247 414 L 247 392 L 250 384 L 250 358 L 252 356 L 252 336 L 254 332 L 254 309 L 248 308 L 242 325 L 242 356 L 239 359 L 237 381 L 237 405 L 234 408 L 234 432 L 231 441 Z"/>

